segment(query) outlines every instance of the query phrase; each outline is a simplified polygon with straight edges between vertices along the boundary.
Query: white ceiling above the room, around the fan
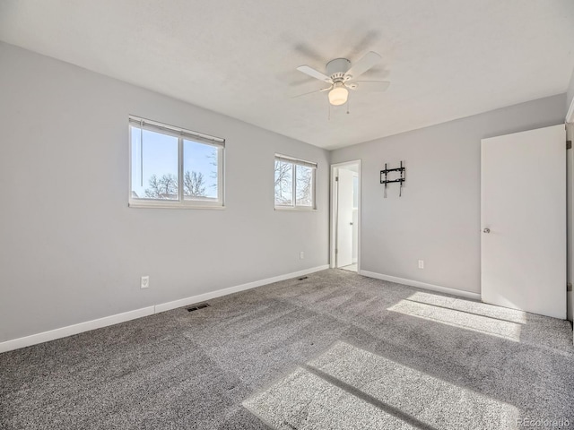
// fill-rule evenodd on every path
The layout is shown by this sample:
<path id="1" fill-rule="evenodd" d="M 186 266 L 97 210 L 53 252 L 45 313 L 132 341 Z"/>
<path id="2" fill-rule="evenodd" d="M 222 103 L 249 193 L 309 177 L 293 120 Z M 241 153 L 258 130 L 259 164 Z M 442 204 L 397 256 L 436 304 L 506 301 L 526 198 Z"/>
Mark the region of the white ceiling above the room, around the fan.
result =
<path id="1" fill-rule="evenodd" d="M 2 0 L 0 40 L 334 149 L 559 94 L 572 0 Z M 295 68 L 374 50 L 351 114 Z"/>

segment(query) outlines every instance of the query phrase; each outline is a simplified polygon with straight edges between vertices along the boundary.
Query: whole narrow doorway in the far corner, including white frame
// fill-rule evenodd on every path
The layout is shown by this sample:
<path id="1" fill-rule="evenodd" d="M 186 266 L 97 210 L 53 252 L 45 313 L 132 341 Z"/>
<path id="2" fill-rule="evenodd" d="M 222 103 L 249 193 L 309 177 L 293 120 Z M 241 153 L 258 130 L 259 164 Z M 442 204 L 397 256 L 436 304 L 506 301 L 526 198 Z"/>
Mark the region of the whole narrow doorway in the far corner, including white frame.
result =
<path id="1" fill-rule="evenodd" d="M 331 267 L 359 272 L 361 160 L 331 166 Z"/>

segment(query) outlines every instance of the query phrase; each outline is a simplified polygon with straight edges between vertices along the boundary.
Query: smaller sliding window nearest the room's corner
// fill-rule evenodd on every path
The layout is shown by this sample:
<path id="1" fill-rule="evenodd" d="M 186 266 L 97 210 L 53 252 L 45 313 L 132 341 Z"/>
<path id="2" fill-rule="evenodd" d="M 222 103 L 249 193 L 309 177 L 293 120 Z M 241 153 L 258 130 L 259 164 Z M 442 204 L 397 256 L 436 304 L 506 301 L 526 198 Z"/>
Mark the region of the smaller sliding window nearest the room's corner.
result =
<path id="1" fill-rule="evenodd" d="M 317 163 L 275 155 L 275 209 L 316 209 Z"/>

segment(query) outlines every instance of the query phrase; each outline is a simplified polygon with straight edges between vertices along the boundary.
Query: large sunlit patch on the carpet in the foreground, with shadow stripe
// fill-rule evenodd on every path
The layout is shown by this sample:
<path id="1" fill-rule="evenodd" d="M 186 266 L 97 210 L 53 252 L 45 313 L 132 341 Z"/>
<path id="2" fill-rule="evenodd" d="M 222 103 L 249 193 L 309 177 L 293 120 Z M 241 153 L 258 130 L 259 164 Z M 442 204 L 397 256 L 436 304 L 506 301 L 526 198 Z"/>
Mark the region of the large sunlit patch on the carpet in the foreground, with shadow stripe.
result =
<path id="1" fill-rule="evenodd" d="M 518 410 L 344 342 L 243 402 L 277 430 L 516 428 Z"/>

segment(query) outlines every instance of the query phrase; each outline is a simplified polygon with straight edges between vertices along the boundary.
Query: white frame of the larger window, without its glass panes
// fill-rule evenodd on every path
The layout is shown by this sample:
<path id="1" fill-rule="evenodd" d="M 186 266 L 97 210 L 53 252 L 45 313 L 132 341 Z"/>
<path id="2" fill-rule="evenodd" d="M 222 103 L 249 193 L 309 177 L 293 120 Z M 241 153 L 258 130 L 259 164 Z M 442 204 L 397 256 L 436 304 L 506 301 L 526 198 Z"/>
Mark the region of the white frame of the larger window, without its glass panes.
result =
<path id="1" fill-rule="evenodd" d="M 167 199 L 138 199 L 132 197 L 132 126 L 141 127 L 155 133 L 166 134 L 178 138 L 178 200 Z M 208 134 L 193 132 L 173 125 L 166 125 L 139 116 L 129 116 L 129 189 L 128 206 L 130 208 L 164 208 L 164 209 L 225 209 L 224 203 L 224 167 L 225 167 L 225 139 L 213 137 Z M 199 142 L 217 148 L 217 200 L 211 198 L 194 200 L 184 199 L 183 187 L 183 141 Z"/>

